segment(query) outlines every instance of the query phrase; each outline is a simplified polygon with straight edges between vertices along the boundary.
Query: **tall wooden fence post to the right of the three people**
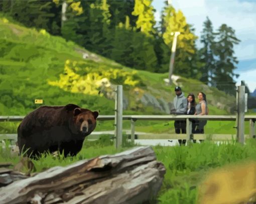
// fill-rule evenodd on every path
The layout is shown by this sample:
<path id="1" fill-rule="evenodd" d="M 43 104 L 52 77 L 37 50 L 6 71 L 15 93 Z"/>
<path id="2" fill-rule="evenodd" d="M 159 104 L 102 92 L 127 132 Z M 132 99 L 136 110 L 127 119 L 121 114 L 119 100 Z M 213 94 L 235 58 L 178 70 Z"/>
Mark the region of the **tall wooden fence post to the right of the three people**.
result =
<path id="1" fill-rule="evenodd" d="M 236 100 L 236 138 L 241 144 L 244 144 L 245 86 L 243 81 L 237 88 Z"/>

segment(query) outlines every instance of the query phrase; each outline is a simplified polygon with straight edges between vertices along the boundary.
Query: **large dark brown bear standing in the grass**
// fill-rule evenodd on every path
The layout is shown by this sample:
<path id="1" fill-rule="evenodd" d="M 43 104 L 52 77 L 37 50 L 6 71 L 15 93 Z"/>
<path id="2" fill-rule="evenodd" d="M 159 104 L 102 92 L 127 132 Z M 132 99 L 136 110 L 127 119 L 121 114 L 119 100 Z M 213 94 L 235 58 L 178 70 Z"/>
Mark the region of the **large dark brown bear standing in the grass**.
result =
<path id="1" fill-rule="evenodd" d="M 66 106 L 41 106 L 29 113 L 18 127 L 20 153 L 28 156 L 44 151 L 64 151 L 75 156 L 82 148 L 84 138 L 96 127 L 97 111 Z"/>

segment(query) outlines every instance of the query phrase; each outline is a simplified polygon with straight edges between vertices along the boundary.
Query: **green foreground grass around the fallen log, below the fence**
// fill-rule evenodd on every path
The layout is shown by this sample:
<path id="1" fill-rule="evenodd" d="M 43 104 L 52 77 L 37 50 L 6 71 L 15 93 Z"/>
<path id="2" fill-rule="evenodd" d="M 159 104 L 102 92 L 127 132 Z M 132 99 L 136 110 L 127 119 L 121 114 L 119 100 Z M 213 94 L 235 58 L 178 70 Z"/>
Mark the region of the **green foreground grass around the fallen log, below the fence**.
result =
<path id="1" fill-rule="evenodd" d="M 46 155 L 33 160 L 36 171 L 40 172 L 53 166 L 66 166 L 81 159 L 98 155 L 114 154 L 130 149 L 133 145 L 123 143 L 123 148 L 116 150 L 109 136 L 102 136 L 96 141 L 85 141 L 83 149 L 75 157 L 64 158 Z M 198 185 L 211 169 L 256 158 L 256 141 L 248 139 L 245 145 L 226 142 L 216 145 L 211 141 L 192 143 L 188 146 L 153 146 L 157 160 L 166 168 L 165 178 L 157 196 L 158 203 L 196 203 Z M 0 149 L 0 162 L 18 163 L 19 157 L 12 156 L 9 151 Z"/>

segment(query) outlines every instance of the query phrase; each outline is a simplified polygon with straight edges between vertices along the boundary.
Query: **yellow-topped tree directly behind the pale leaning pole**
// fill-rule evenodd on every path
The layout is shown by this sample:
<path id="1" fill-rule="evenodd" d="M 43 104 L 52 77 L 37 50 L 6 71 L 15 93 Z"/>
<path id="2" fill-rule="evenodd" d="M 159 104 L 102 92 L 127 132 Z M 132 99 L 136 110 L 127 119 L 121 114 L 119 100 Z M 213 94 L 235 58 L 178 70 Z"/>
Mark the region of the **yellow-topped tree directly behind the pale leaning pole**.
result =
<path id="1" fill-rule="evenodd" d="M 175 74 L 180 74 L 184 77 L 197 77 L 198 58 L 195 57 L 197 49 L 195 41 L 198 38 L 193 34 L 193 28 L 187 24 L 186 18 L 181 11 L 176 12 L 172 6 L 166 6 L 162 15 L 162 37 L 166 45 L 171 50 L 175 32 L 180 32 L 181 35 L 177 39 L 177 49 L 175 57 Z"/>

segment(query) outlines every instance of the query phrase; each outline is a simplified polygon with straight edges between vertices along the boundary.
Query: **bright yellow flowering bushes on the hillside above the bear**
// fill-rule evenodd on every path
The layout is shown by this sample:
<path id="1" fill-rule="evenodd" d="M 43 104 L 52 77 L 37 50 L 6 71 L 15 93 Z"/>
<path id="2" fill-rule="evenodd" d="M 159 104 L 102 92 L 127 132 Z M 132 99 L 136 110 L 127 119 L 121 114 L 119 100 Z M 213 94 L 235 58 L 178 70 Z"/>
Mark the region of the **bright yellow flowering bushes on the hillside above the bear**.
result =
<path id="1" fill-rule="evenodd" d="M 131 73 L 120 69 L 108 69 L 104 65 L 99 66 L 99 68 L 95 70 L 92 67 L 87 67 L 87 63 L 70 62 L 67 60 L 64 74 L 60 75 L 60 80 L 49 81 L 48 83 L 71 93 L 83 93 L 96 96 L 102 88 L 102 83 L 107 83 L 107 85 L 105 85 L 107 87 L 111 86 L 109 82 L 123 84 L 124 89 L 136 86 L 140 83 L 140 77 L 137 76 L 137 80 L 135 80 L 135 74 L 136 71 Z"/>

